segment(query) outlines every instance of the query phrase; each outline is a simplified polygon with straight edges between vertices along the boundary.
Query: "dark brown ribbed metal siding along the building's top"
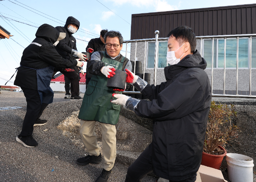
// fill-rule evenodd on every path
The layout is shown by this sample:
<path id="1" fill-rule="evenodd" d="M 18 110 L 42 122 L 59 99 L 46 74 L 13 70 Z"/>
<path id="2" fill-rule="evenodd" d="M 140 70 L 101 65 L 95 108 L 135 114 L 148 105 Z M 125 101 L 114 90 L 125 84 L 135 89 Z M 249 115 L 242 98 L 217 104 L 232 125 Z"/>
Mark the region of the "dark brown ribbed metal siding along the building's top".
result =
<path id="1" fill-rule="evenodd" d="M 256 4 L 133 14 L 131 39 L 159 37 L 187 25 L 196 36 L 256 33 Z"/>

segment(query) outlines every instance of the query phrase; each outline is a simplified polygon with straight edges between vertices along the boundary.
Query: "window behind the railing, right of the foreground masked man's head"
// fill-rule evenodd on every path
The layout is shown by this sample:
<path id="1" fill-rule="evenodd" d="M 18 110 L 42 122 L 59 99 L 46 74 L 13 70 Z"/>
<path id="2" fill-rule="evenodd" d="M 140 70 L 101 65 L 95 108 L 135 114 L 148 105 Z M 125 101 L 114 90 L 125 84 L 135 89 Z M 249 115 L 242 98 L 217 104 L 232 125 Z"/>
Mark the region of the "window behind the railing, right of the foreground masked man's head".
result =
<path id="1" fill-rule="evenodd" d="M 256 39 L 254 40 L 256 46 Z M 252 42 L 253 43 L 253 42 Z M 252 49 L 256 49 L 252 46 Z M 253 50 L 252 50 L 253 51 Z M 224 67 L 224 39 L 214 39 L 213 48 L 213 67 Z M 248 38 L 239 38 L 238 45 L 238 67 L 248 68 Z M 203 45 L 203 57 L 206 59 L 207 68 L 212 67 L 212 39 L 205 39 Z M 255 50 L 255 67 L 256 67 L 256 50 Z M 226 39 L 226 68 L 237 67 L 237 39 Z M 252 66 L 253 67 L 253 66 Z"/>

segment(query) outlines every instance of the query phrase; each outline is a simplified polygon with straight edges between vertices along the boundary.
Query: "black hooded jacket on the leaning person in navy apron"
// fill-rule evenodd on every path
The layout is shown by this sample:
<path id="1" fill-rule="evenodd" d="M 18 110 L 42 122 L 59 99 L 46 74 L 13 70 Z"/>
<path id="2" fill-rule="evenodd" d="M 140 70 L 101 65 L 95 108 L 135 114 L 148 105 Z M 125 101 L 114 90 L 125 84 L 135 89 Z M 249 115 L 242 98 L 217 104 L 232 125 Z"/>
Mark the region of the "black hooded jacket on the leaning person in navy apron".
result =
<path id="1" fill-rule="evenodd" d="M 76 60 L 66 60 L 58 54 L 53 46 L 58 37 L 59 32 L 51 25 L 43 24 L 37 29 L 36 38 L 23 51 L 21 67 L 18 68 L 14 85 L 37 90 L 36 69 L 48 66 L 66 68 L 77 65 Z"/>

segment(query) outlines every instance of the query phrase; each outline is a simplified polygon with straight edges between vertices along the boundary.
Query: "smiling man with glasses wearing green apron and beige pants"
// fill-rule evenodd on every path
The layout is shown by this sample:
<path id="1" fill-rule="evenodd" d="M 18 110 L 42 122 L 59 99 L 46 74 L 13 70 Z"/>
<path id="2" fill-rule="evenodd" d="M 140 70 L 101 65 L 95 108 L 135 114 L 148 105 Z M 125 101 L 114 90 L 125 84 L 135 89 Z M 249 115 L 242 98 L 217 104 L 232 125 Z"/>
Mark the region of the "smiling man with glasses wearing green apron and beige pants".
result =
<path id="1" fill-rule="evenodd" d="M 110 102 L 113 93 L 121 94 L 117 89 L 107 87 L 107 79 L 115 74 L 115 70 L 132 70 L 131 61 L 120 54 L 123 37 L 120 32 L 109 31 L 105 34 L 106 51 L 94 52 L 87 70 L 93 75 L 80 108 L 78 118 L 81 119 L 80 134 L 89 155 L 77 159 L 80 165 L 100 163 L 102 158 L 95 133 L 96 121 L 101 124 L 102 152 L 104 166 L 96 182 L 106 182 L 110 176 L 116 158 L 116 128 L 120 106 Z"/>

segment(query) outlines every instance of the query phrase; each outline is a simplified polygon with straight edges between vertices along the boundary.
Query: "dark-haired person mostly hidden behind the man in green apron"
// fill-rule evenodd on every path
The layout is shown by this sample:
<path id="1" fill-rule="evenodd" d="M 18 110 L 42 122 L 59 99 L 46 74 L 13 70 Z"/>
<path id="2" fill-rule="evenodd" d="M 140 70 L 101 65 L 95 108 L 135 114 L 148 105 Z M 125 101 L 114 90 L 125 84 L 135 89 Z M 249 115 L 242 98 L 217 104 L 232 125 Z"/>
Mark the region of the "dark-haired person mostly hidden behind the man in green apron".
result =
<path id="1" fill-rule="evenodd" d="M 88 46 L 86 47 L 86 52 L 90 53 L 90 58 L 93 52 L 97 52 L 97 51 L 106 51 L 106 46 L 105 46 L 105 41 L 104 41 L 104 36 L 107 33 L 108 29 L 103 29 L 100 32 L 100 38 L 92 38 L 89 42 L 88 42 Z M 86 86 L 88 85 L 89 81 L 92 78 L 92 74 L 88 71 L 88 69 L 86 68 L 86 75 L 85 75 L 85 84 Z"/>

